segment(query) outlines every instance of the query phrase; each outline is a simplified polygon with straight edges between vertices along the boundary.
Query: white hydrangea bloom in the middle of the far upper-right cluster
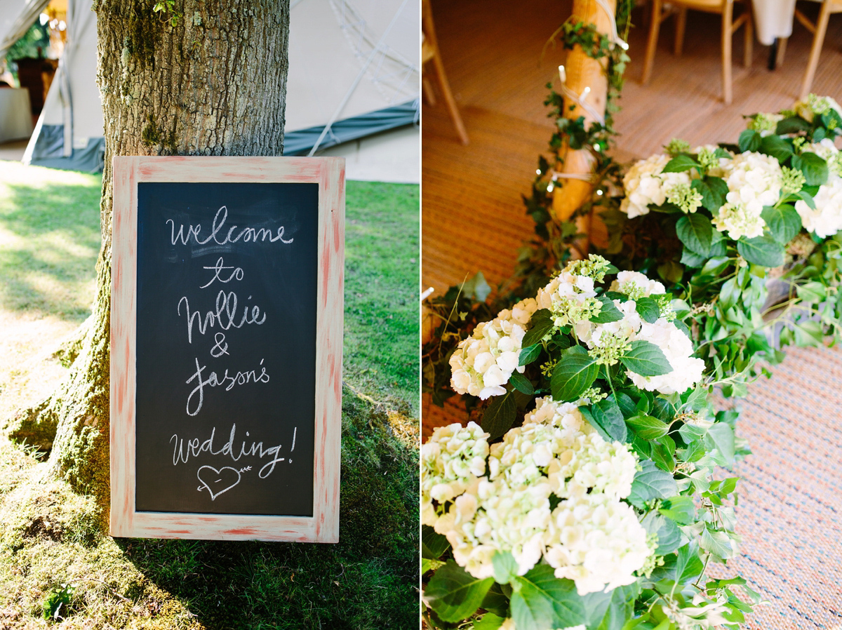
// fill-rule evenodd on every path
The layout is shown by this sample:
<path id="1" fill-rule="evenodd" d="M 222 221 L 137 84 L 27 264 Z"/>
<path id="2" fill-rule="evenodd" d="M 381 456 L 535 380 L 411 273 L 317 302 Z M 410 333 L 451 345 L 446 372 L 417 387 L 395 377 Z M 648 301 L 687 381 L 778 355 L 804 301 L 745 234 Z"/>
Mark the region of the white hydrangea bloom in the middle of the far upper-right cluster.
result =
<path id="1" fill-rule="evenodd" d="M 763 206 L 774 206 L 781 198 L 781 164 L 763 153 L 740 153 L 728 165 L 725 183 L 727 202 L 743 206 L 749 215 L 759 217 Z"/>

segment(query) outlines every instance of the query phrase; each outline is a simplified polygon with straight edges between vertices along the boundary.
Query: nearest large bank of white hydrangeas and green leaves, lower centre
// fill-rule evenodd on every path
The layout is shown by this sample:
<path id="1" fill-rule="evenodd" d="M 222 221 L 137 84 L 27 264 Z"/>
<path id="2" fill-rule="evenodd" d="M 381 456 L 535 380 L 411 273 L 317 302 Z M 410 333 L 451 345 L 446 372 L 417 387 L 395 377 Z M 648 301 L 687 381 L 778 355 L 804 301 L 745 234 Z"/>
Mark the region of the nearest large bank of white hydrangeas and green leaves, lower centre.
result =
<path id="1" fill-rule="evenodd" d="M 422 447 L 431 627 L 738 627 L 751 610 L 743 579 L 702 581 L 737 550 L 736 479 L 712 473 L 740 446 L 674 306 L 592 255 L 457 345 L 451 387 L 492 402 L 482 428 Z"/>

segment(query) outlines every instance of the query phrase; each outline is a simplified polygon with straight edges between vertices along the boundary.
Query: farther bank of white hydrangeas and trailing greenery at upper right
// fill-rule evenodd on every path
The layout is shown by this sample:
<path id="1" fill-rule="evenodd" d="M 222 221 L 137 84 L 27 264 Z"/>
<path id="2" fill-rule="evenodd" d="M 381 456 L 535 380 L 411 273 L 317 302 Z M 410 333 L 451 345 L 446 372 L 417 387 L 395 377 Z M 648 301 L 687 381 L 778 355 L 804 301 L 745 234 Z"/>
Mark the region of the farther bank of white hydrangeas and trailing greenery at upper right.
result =
<path id="1" fill-rule="evenodd" d="M 842 316 L 842 108 L 810 94 L 748 120 L 736 145 L 672 141 L 634 164 L 603 215 L 604 254 L 674 287 L 700 356 L 732 380 L 727 395 L 787 344 L 839 334 Z"/>

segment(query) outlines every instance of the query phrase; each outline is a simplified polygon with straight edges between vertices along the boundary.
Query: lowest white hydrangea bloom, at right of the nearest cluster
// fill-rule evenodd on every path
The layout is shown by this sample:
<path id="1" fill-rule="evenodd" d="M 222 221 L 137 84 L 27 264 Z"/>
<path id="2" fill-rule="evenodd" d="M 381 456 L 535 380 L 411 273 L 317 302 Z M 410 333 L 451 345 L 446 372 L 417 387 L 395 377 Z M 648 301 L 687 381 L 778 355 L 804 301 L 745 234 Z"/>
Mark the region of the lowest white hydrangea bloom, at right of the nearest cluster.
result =
<path id="1" fill-rule="evenodd" d="M 579 595 L 632 584 L 654 552 L 632 507 L 599 493 L 557 505 L 544 542 L 556 577 Z"/>

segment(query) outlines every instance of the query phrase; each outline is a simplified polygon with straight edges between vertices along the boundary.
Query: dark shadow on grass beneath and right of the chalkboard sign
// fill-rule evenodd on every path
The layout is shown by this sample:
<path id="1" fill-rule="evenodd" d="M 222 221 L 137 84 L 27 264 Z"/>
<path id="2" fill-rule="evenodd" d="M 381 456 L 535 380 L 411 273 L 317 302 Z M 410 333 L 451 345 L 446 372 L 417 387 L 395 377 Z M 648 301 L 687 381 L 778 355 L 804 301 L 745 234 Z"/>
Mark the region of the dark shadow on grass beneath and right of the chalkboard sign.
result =
<path id="1" fill-rule="evenodd" d="M 345 390 L 338 544 L 115 542 L 209 628 L 416 628 L 417 451 Z"/>

